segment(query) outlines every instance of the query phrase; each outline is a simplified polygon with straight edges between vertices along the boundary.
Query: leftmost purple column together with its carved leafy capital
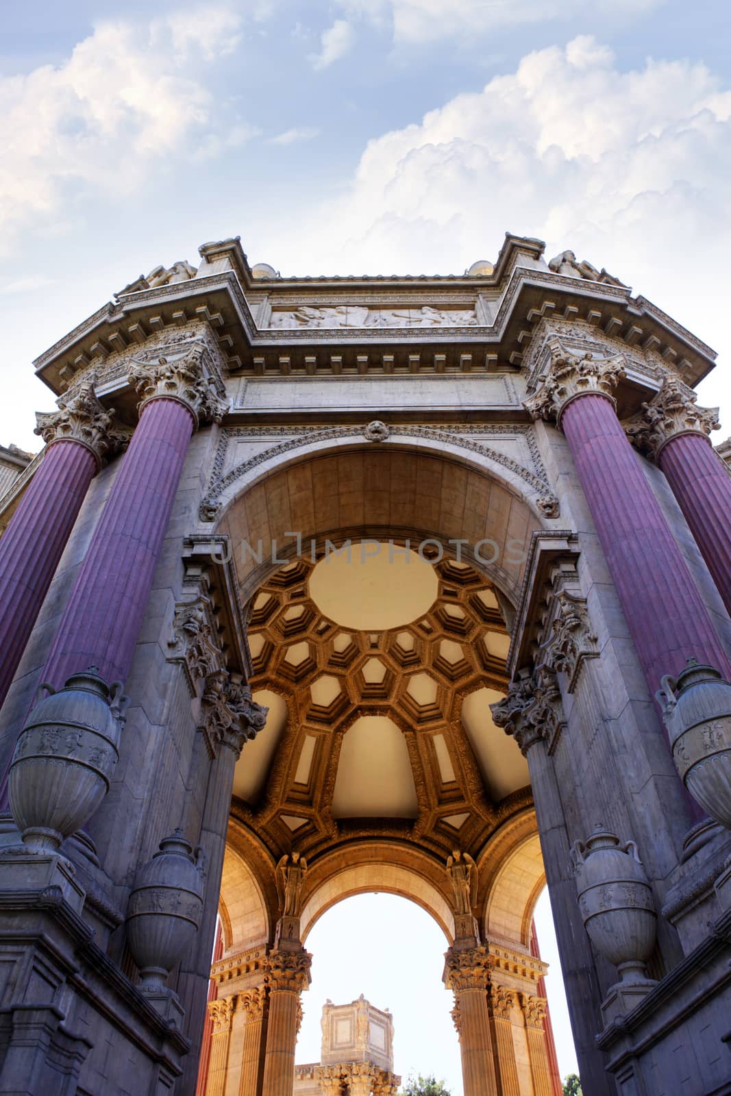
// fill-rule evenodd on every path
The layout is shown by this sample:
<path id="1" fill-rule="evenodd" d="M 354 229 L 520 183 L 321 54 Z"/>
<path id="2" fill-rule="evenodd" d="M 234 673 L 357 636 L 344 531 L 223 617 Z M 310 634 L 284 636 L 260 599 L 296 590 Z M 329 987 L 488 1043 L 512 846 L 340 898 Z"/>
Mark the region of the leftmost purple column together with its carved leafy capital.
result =
<path id="1" fill-rule="evenodd" d="M 0 539 L 0 705 L 48 593 L 81 503 L 105 457 L 125 439 L 93 381 L 36 414 L 46 448 L 38 470 Z"/>

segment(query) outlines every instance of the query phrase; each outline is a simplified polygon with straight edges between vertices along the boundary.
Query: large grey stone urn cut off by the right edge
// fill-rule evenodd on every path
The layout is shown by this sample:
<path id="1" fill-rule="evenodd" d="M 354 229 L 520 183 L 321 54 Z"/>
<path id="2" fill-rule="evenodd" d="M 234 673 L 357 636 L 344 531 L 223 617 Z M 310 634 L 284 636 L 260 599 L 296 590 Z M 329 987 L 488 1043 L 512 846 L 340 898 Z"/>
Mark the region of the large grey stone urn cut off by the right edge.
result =
<path id="1" fill-rule="evenodd" d="M 703 809 L 731 830 L 731 685 L 695 659 L 656 694 L 675 767 Z"/>

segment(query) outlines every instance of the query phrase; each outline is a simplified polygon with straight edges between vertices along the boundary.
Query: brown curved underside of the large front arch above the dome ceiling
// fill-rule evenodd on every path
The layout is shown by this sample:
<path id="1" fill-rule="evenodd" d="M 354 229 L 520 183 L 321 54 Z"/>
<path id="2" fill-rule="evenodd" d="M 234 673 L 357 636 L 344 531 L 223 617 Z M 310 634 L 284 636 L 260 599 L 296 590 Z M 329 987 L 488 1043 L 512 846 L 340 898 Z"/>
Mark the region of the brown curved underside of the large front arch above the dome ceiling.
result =
<path id="1" fill-rule="evenodd" d="M 299 533 L 305 551 L 311 541 L 322 546 L 325 539 L 367 536 L 412 544 L 430 539 L 454 553 L 449 541 L 460 540 L 464 558 L 517 603 L 527 545 L 542 518 L 507 476 L 446 446 L 441 452 L 413 445 L 309 450 L 294 460 L 282 454 L 276 464 L 265 461 L 229 484 L 231 498 L 217 532 L 230 538 L 244 600 L 297 555 L 293 534 Z M 472 549 L 480 541 L 490 545 L 476 558 Z"/>

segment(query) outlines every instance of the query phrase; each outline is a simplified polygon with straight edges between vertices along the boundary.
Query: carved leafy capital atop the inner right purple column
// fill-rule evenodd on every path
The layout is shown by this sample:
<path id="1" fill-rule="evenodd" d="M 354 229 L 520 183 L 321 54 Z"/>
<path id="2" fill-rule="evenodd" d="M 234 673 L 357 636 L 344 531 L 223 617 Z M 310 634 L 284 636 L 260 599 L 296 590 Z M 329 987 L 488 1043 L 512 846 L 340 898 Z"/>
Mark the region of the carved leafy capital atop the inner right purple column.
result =
<path id="1" fill-rule="evenodd" d="M 539 378 L 539 388 L 524 400 L 524 408 L 534 419 L 561 423 L 563 411 L 580 396 L 604 396 L 616 407 L 613 392 L 625 376 L 625 359 L 568 354 L 558 340 L 549 344 L 550 364 Z"/>

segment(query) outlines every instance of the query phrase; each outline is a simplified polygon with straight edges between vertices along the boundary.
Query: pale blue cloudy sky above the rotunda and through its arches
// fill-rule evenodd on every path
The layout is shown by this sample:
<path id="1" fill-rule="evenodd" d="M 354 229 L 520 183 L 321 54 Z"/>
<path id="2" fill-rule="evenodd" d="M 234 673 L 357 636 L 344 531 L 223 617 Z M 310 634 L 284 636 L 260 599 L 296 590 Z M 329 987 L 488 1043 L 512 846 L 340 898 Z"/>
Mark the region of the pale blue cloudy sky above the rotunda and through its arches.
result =
<path id="1" fill-rule="evenodd" d="M 546 240 L 547 258 L 570 248 L 719 352 L 699 402 L 721 407 L 716 441 L 731 434 L 722 0 L 36 0 L 5 4 L 2 30 L 1 444 L 38 448 L 33 412 L 53 397 L 34 357 L 139 274 L 237 235 L 285 275 L 461 273 L 505 231 Z M 331 911 L 312 946 L 353 911 Z M 443 950 L 423 911 L 393 911 Z M 361 939 L 375 921 L 356 923 Z M 409 998 L 392 968 L 375 980 L 370 957 L 345 985 L 328 961 L 313 991 L 398 1005 L 399 1066 L 458 1096 L 441 970 L 439 1034 L 416 1054 L 426 990 Z"/>

